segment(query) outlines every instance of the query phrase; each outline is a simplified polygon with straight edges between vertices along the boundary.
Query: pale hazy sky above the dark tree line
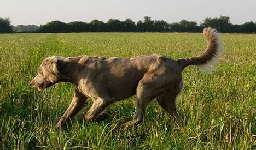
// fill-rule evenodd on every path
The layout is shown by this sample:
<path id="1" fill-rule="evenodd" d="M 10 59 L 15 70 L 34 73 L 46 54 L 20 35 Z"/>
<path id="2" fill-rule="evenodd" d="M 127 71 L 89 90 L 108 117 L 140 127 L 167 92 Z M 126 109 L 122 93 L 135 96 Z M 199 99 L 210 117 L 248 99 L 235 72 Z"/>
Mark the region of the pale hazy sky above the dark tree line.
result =
<path id="1" fill-rule="evenodd" d="M 202 22 L 206 17 L 229 16 L 233 24 L 256 21 L 256 0 L 0 0 L 0 17 L 9 17 L 11 25 L 44 25 L 53 20 L 62 22 L 98 19 L 131 18 L 165 20 L 182 19 Z"/>

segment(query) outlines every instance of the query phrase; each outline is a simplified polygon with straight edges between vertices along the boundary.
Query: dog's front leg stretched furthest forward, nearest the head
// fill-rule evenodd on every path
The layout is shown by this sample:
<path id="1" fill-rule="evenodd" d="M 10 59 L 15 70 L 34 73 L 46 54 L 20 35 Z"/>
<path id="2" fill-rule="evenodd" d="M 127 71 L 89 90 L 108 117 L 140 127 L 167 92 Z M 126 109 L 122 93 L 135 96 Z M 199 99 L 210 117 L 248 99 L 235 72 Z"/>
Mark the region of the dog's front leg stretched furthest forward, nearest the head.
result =
<path id="1" fill-rule="evenodd" d="M 60 121 L 56 124 L 56 128 L 65 127 L 66 122 L 69 121 L 72 117 L 77 115 L 77 113 L 83 109 L 83 107 L 87 104 L 86 103 L 86 97 L 77 91 L 77 89 L 74 90 L 74 97 L 71 101 L 71 104 L 69 105 L 66 112 L 61 117 Z"/>

